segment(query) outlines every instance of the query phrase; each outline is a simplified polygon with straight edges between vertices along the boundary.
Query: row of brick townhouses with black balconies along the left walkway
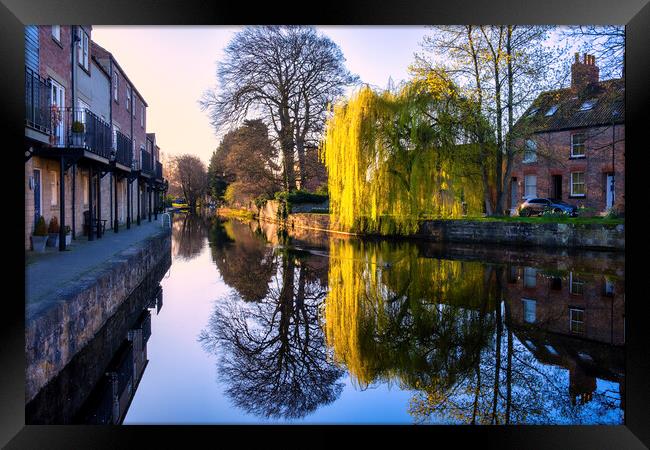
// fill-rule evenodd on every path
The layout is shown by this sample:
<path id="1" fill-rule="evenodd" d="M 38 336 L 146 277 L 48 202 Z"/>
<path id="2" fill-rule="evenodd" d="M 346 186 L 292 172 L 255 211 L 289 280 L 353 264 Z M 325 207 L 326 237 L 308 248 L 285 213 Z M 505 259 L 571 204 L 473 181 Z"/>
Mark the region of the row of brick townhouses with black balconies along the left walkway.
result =
<path id="1" fill-rule="evenodd" d="M 141 163 L 147 104 L 91 33 L 86 25 L 25 27 L 26 249 L 40 216 L 57 218 L 64 250 L 66 227 L 72 239 L 93 240 L 162 204 L 162 171 L 151 157 Z"/>

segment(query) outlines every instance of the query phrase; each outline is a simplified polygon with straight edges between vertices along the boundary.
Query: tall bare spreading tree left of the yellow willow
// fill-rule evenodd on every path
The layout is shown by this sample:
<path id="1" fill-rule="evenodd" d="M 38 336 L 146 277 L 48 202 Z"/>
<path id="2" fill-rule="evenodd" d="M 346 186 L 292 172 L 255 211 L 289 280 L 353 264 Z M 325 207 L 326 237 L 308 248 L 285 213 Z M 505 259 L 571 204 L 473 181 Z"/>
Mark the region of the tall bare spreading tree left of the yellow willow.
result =
<path id="1" fill-rule="evenodd" d="M 263 119 L 280 147 L 284 188 L 295 189 L 296 153 L 303 177 L 304 149 L 322 129 L 327 104 L 358 80 L 344 61 L 338 45 L 311 27 L 247 27 L 226 47 L 218 87 L 200 105 L 217 131 L 250 115 Z"/>

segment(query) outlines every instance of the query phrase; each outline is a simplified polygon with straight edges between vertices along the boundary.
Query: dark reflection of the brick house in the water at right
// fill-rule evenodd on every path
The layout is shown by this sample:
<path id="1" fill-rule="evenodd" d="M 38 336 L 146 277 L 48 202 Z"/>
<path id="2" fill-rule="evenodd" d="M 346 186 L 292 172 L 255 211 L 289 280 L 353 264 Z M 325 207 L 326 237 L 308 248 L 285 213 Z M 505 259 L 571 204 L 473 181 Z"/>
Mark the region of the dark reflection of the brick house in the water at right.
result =
<path id="1" fill-rule="evenodd" d="M 572 402 L 586 403 L 596 378 L 624 389 L 625 281 L 511 266 L 505 297 L 515 335 L 546 364 L 569 370 Z"/>

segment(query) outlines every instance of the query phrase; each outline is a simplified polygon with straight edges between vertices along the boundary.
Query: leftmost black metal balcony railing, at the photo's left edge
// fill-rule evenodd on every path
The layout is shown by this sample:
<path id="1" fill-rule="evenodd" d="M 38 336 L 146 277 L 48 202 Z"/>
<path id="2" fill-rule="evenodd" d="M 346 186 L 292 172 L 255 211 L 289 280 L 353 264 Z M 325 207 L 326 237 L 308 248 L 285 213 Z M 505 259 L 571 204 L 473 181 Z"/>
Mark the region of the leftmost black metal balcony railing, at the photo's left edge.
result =
<path id="1" fill-rule="evenodd" d="M 51 89 L 49 80 L 25 67 L 25 124 L 46 134 L 52 130 Z"/>

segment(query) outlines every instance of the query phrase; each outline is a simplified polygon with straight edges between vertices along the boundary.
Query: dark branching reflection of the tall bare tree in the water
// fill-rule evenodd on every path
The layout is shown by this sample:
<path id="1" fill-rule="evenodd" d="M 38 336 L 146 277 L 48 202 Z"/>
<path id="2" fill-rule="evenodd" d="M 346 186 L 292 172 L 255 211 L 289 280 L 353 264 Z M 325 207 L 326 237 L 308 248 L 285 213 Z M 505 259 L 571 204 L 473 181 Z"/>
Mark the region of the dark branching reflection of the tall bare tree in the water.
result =
<path id="1" fill-rule="evenodd" d="M 248 413 L 301 418 L 334 401 L 343 388 L 337 382 L 343 372 L 329 361 L 319 320 L 326 286 L 315 271 L 322 264 L 309 259 L 277 255 L 280 267 L 268 294 L 257 302 L 230 298 L 218 304 L 199 336 L 207 351 L 219 355 L 227 395 Z"/>

